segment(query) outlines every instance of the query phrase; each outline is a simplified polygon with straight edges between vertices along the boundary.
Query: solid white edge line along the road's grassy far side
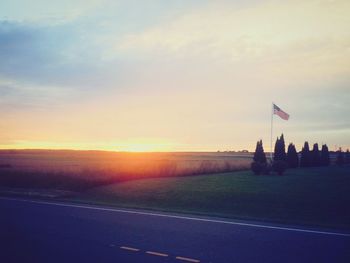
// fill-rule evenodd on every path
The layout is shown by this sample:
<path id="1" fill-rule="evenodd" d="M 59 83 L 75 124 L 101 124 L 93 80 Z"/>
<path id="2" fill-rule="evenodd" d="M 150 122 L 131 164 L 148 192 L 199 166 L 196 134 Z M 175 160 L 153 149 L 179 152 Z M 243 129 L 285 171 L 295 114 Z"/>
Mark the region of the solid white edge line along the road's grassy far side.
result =
<path id="1" fill-rule="evenodd" d="M 12 200 L 12 201 L 22 201 L 22 202 L 29 202 L 29 203 L 35 203 L 35 204 L 55 205 L 55 206 L 63 206 L 63 207 L 75 207 L 75 208 L 84 208 L 84 209 L 90 209 L 90 210 L 99 210 L 99 211 L 109 211 L 109 212 L 117 212 L 117 213 L 135 214 L 135 215 L 158 216 L 158 217 L 175 218 L 175 219 L 192 220 L 192 221 L 201 221 L 201 222 L 209 222 L 209 223 L 219 223 L 219 224 L 227 224 L 227 225 L 238 225 L 238 226 L 247 226 L 247 227 L 255 227 L 255 228 L 267 228 L 267 229 L 275 229 L 275 230 L 285 230 L 285 231 L 293 231 L 293 232 L 311 233 L 311 234 L 350 237 L 350 233 L 318 231 L 318 230 L 310 230 L 310 229 L 302 229 L 302 228 L 292 228 L 292 227 L 283 227 L 283 226 L 271 226 L 271 225 L 262 225 L 262 224 L 253 224 L 253 223 L 242 223 L 242 222 L 224 221 L 224 220 L 217 220 L 217 219 L 206 219 L 206 218 L 197 218 L 197 217 L 188 217 L 188 216 L 177 216 L 177 215 L 168 215 L 168 214 L 160 214 L 160 213 L 152 213 L 152 212 L 141 212 L 141 211 L 124 210 L 124 209 L 117 209 L 117 208 L 104 208 L 104 207 L 87 206 L 87 205 L 63 204 L 63 203 L 47 202 L 47 201 L 34 201 L 34 200 L 26 200 L 26 199 L 8 198 L 8 197 L 0 197 L 0 199 Z"/>

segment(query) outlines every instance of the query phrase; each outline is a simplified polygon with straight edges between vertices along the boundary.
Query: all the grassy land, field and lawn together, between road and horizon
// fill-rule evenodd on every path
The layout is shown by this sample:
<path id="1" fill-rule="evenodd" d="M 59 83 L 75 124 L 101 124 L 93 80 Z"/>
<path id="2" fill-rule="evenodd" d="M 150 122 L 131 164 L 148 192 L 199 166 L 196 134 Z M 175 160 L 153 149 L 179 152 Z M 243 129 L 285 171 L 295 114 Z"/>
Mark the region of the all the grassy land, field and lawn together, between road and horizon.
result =
<path id="1" fill-rule="evenodd" d="M 350 230 L 349 165 L 255 176 L 251 160 L 245 153 L 0 151 L 0 194 Z"/>

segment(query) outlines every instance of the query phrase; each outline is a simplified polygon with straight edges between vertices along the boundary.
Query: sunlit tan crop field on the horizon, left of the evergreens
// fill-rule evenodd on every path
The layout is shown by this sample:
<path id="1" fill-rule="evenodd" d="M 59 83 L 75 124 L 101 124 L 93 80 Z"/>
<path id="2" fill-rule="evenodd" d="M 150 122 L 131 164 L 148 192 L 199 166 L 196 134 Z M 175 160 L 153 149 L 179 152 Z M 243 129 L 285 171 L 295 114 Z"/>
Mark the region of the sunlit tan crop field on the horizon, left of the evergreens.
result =
<path id="1" fill-rule="evenodd" d="M 138 178 L 248 169 L 249 153 L 0 150 L 0 187 L 81 191 Z"/>

